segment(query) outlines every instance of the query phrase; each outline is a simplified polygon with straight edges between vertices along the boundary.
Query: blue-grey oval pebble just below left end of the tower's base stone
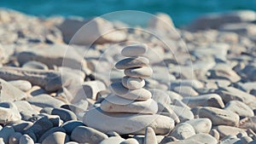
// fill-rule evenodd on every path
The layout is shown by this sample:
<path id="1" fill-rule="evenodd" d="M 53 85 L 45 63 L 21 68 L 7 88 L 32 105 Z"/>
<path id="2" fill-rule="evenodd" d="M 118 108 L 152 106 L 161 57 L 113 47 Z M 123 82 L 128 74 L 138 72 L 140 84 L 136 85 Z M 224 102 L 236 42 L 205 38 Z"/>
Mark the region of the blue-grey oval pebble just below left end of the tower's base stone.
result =
<path id="1" fill-rule="evenodd" d="M 100 143 L 101 141 L 108 139 L 108 135 L 90 127 L 78 126 L 73 130 L 71 139 L 79 143 Z"/>

